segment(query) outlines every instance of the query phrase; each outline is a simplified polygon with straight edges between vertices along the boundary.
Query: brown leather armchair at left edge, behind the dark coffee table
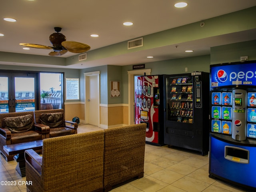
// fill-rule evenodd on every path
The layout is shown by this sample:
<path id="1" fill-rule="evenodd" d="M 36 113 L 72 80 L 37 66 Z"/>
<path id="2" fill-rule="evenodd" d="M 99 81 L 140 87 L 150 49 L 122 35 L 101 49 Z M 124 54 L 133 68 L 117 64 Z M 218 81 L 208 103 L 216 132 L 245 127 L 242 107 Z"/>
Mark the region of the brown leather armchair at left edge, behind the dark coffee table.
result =
<path id="1" fill-rule="evenodd" d="M 31 127 L 24 126 L 27 122 L 31 122 Z M 0 114 L 0 152 L 5 156 L 6 161 L 12 161 L 15 154 L 8 155 L 3 146 L 42 140 L 46 138 L 47 132 L 49 132 L 48 126 L 34 123 L 33 111 Z"/>

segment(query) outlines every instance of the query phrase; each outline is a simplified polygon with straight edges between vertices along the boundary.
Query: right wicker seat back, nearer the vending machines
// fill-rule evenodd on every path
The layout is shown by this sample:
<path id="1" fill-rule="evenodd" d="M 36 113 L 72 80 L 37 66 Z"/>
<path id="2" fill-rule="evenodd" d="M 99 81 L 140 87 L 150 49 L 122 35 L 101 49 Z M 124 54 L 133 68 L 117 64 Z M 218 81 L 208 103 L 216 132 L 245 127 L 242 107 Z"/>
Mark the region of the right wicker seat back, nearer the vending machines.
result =
<path id="1" fill-rule="evenodd" d="M 104 191 L 144 175 L 146 124 L 104 130 Z"/>

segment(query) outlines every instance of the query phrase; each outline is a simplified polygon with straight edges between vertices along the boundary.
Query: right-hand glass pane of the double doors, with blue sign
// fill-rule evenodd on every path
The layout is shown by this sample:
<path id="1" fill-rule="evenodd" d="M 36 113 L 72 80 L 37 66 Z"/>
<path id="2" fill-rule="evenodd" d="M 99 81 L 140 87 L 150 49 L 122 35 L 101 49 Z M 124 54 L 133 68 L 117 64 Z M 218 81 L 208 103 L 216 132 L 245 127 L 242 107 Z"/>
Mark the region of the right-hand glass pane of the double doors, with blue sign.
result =
<path id="1" fill-rule="evenodd" d="M 15 111 L 35 110 L 34 77 L 15 77 Z"/>

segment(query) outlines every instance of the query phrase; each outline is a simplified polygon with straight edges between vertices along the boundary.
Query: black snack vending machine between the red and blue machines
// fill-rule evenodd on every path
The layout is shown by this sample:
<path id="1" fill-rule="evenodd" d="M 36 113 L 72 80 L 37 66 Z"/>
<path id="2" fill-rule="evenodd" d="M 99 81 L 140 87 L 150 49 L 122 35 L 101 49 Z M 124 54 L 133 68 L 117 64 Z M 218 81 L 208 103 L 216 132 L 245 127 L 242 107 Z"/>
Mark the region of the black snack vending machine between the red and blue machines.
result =
<path id="1" fill-rule="evenodd" d="M 208 154 L 209 73 L 164 75 L 164 84 L 164 143 Z"/>

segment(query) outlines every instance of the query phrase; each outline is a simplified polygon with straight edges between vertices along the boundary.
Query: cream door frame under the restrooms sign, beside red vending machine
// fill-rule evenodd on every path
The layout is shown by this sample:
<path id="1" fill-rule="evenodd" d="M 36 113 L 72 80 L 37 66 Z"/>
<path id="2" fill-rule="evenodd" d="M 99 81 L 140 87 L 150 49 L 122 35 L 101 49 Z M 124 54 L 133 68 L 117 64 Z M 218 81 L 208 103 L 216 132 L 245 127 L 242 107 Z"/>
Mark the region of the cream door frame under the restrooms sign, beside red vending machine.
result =
<path id="1" fill-rule="evenodd" d="M 128 123 L 134 124 L 134 76 L 150 75 L 151 69 L 127 71 L 128 73 Z"/>

